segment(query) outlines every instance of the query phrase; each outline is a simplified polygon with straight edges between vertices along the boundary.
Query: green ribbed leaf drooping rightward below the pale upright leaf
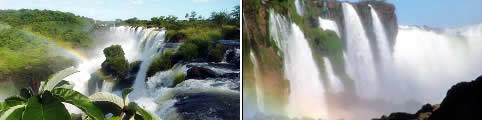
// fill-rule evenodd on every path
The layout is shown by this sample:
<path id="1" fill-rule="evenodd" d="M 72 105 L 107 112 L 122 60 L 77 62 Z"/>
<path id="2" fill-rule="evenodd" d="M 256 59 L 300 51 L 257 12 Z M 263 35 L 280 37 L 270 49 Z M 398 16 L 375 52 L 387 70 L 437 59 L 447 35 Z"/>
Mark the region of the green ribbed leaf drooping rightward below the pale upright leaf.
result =
<path id="1" fill-rule="evenodd" d="M 77 106 L 89 117 L 94 118 L 95 120 L 104 119 L 104 113 L 102 113 L 102 111 L 97 108 L 97 106 L 92 104 L 87 96 L 84 96 L 75 90 L 66 88 L 55 88 L 54 90 L 52 90 L 52 94 L 59 96 L 59 99 L 62 102 L 67 102 L 74 106 Z"/>

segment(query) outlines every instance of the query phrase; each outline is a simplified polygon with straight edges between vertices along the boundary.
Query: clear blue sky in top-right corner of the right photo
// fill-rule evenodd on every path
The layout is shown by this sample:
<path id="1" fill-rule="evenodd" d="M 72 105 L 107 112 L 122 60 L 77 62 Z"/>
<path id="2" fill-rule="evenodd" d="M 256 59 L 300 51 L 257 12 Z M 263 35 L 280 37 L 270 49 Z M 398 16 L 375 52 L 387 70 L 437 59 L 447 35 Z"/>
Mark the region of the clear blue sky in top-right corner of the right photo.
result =
<path id="1" fill-rule="evenodd" d="M 349 0 L 359 1 L 359 0 Z M 458 27 L 482 23 L 482 0 L 386 0 L 398 24 Z"/>

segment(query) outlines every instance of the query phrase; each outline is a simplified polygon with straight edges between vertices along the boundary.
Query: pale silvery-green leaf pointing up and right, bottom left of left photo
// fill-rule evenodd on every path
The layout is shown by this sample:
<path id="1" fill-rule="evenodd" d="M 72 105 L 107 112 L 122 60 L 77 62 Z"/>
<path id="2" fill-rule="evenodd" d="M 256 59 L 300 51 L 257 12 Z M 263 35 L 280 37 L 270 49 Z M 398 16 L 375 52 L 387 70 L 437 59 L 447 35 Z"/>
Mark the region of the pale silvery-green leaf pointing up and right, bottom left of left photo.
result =
<path id="1" fill-rule="evenodd" d="M 70 67 L 70 68 L 64 69 L 64 70 L 56 73 L 43 86 L 41 86 L 40 91 L 44 92 L 44 91 L 47 91 L 47 90 L 50 91 L 50 90 L 54 89 L 55 86 L 57 86 L 57 84 L 59 84 L 65 77 L 67 77 L 69 75 L 72 75 L 76 72 L 79 72 L 79 71 L 77 69 L 75 69 L 74 67 Z"/>

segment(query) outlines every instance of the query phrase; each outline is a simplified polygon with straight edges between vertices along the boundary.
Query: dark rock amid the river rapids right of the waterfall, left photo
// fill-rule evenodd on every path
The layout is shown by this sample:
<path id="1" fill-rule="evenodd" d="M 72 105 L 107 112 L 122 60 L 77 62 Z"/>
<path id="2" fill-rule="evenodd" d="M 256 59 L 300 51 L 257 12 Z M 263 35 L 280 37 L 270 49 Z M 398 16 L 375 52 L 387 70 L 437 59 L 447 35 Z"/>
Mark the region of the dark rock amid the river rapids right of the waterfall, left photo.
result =
<path id="1" fill-rule="evenodd" d="M 186 79 L 206 79 L 214 78 L 216 73 L 210 69 L 193 66 L 187 70 Z"/>

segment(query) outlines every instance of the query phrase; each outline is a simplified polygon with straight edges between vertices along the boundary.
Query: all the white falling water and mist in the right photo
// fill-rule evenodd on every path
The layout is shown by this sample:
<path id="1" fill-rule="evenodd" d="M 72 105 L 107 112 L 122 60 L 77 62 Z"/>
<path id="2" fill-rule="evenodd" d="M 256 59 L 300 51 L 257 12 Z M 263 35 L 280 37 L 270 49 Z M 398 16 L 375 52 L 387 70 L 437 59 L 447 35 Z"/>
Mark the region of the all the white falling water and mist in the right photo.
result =
<path id="1" fill-rule="evenodd" d="M 368 25 L 373 25 L 375 33 L 372 39 L 350 3 L 342 3 L 343 23 L 319 19 L 321 29 L 335 31 L 339 37 L 338 24 L 344 24 L 345 70 L 354 81 L 354 89 L 341 82 L 345 78 L 338 75 L 344 73 L 336 73 L 340 71 L 333 67 L 339 66 L 332 65 L 328 57 L 323 57 L 325 68 L 317 68 L 298 26 L 270 11 L 270 36 L 283 52 L 279 55 L 284 58 L 284 75 L 290 82 L 285 107 L 288 117 L 371 119 L 392 112 L 413 113 L 422 104 L 440 103 L 452 85 L 482 74 L 482 24 L 444 29 L 400 25 L 390 48 L 384 23 L 376 9 L 368 7 L 372 19 Z M 256 77 L 260 63 L 255 53 L 250 54 L 255 79 L 260 79 Z M 320 74 L 323 69 L 326 74 Z M 262 83 L 256 81 L 257 86 Z M 355 90 L 355 98 L 343 92 L 348 89 Z M 263 88 L 256 88 L 256 110 L 269 113 L 262 105 L 265 95 L 259 91 Z"/>

